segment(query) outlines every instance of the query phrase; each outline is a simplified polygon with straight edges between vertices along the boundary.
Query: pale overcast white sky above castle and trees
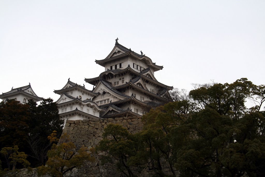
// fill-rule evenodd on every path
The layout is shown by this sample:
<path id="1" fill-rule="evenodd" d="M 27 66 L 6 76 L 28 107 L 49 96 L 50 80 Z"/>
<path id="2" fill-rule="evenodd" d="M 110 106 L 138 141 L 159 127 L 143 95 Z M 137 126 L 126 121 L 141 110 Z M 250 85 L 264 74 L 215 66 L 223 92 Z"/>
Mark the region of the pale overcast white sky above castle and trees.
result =
<path id="1" fill-rule="evenodd" d="M 30 82 L 39 97 L 85 83 L 119 43 L 163 65 L 158 81 L 265 84 L 265 1 L 0 0 L 0 93 Z"/>

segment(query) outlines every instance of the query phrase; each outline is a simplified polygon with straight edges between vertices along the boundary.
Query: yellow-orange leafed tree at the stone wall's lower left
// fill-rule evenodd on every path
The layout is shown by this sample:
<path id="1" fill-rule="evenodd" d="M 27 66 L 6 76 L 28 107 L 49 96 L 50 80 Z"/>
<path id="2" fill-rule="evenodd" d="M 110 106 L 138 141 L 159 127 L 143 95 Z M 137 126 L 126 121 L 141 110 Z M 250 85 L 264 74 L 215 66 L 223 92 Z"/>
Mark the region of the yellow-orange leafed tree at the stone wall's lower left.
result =
<path id="1" fill-rule="evenodd" d="M 56 140 L 56 133 L 49 136 L 50 141 Z M 90 149 L 93 151 L 93 149 Z M 48 151 L 48 161 L 46 166 L 38 167 L 39 175 L 63 176 L 68 171 L 76 167 L 81 167 L 86 161 L 93 161 L 94 158 L 87 152 L 86 147 L 76 149 L 74 143 L 69 139 L 69 135 L 63 134 L 58 145 L 53 144 Z"/>

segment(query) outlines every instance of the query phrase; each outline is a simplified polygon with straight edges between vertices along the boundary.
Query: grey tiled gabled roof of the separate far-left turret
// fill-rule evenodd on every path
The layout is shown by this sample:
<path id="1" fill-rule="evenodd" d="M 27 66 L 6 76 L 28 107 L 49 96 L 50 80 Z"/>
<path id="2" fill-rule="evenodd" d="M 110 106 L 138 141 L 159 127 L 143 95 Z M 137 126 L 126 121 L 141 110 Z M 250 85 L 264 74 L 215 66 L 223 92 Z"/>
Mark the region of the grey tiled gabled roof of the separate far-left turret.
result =
<path id="1" fill-rule="evenodd" d="M 29 92 L 27 92 L 27 91 L 29 91 Z M 26 85 L 26 86 L 23 86 L 23 87 L 18 87 L 18 88 L 13 88 L 12 87 L 12 89 L 9 92 L 2 93 L 0 95 L 0 98 L 5 98 L 5 97 L 8 97 L 8 96 L 16 95 L 18 93 L 25 94 L 25 95 L 27 95 L 27 96 L 29 96 L 31 98 L 35 98 L 38 101 L 41 101 L 43 99 L 42 97 L 38 97 L 36 95 L 36 93 L 31 88 L 30 83 L 29 83 L 29 85 Z"/>

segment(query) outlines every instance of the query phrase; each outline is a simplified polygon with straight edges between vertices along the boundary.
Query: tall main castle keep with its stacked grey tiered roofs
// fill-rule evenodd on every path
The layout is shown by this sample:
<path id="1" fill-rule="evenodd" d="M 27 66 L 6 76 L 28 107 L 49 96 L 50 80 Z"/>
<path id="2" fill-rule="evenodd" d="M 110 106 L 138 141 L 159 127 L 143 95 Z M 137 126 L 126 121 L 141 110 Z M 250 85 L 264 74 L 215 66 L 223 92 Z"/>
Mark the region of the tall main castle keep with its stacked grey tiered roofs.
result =
<path id="1" fill-rule="evenodd" d="M 154 77 L 154 72 L 163 66 L 153 63 L 142 51 L 138 54 L 116 39 L 111 53 L 95 62 L 105 71 L 85 81 L 94 85 L 92 92 L 99 93 L 92 100 L 106 109 L 100 117 L 142 116 L 152 107 L 171 101 L 168 91 L 173 87 Z"/>

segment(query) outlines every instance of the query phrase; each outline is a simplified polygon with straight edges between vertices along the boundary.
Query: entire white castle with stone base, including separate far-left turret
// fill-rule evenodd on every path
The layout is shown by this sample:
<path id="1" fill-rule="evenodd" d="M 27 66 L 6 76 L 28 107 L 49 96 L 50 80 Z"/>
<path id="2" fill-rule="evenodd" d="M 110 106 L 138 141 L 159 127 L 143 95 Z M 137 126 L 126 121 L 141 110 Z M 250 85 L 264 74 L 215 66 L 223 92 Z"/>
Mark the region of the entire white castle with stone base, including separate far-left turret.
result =
<path id="1" fill-rule="evenodd" d="M 89 149 L 99 144 L 104 128 L 110 123 L 120 124 L 130 133 L 139 132 L 143 127 L 142 115 L 171 101 L 169 90 L 173 89 L 154 77 L 154 72 L 163 66 L 153 63 L 142 51 L 138 54 L 122 46 L 118 38 L 109 55 L 95 62 L 105 67 L 105 71 L 98 77 L 85 79 L 94 85 L 92 90 L 70 79 L 63 88 L 54 90 L 60 95 L 56 101 L 60 118 L 66 120 L 63 133 L 67 133 L 78 147 Z M 0 98 L 4 101 L 16 98 L 21 103 L 27 103 L 28 99 L 36 102 L 42 99 L 33 92 L 30 84 L 12 88 L 2 93 Z M 102 165 L 99 154 L 93 156 L 95 162 L 86 162 L 83 168 L 69 171 L 66 176 L 124 176 L 116 171 L 113 164 Z M 172 175 L 168 164 L 162 164 L 166 174 Z M 153 174 L 153 170 L 146 167 L 139 176 Z"/>

